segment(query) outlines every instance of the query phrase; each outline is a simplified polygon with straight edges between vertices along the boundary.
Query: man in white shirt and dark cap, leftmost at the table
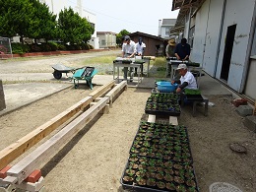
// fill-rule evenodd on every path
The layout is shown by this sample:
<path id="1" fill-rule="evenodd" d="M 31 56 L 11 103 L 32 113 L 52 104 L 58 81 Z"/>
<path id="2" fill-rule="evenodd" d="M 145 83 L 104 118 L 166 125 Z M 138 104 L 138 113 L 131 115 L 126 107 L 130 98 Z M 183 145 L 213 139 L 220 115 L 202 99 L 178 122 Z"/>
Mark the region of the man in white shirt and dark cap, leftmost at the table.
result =
<path id="1" fill-rule="evenodd" d="M 122 57 L 123 58 L 133 58 L 136 54 L 136 44 L 129 35 L 124 36 L 124 42 L 122 45 Z M 130 82 L 133 81 L 133 68 L 130 67 Z M 123 68 L 124 80 L 127 80 L 128 67 Z"/>

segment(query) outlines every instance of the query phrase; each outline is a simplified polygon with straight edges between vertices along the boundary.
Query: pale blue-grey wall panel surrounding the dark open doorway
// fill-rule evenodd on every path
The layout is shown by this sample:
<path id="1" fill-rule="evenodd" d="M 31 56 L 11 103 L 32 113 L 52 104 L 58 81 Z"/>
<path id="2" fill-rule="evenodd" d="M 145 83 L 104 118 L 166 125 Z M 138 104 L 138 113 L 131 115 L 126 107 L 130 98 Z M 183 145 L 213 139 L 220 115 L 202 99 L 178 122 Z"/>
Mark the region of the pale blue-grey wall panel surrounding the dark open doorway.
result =
<path id="1" fill-rule="evenodd" d="M 236 24 L 235 37 L 231 55 L 230 69 L 227 85 L 237 92 L 240 92 L 243 70 L 245 67 L 245 57 L 249 32 L 251 28 L 255 0 L 226 0 L 224 13 L 224 28 L 218 60 L 217 78 L 221 77 L 224 58 L 224 42 L 227 27 Z"/>

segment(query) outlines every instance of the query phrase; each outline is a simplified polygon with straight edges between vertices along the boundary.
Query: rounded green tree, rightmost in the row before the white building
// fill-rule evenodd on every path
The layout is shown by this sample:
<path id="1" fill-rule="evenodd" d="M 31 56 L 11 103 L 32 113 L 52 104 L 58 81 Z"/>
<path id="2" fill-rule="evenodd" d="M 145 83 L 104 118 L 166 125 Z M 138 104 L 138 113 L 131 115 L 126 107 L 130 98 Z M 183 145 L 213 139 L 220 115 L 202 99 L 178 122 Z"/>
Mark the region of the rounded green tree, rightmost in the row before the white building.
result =
<path id="1" fill-rule="evenodd" d="M 71 7 L 59 13 L 58 35 L 63 42 L 71 44 L 87 42 L 94 31 L 90 23 L 78 13 L 74 13 Z"/>

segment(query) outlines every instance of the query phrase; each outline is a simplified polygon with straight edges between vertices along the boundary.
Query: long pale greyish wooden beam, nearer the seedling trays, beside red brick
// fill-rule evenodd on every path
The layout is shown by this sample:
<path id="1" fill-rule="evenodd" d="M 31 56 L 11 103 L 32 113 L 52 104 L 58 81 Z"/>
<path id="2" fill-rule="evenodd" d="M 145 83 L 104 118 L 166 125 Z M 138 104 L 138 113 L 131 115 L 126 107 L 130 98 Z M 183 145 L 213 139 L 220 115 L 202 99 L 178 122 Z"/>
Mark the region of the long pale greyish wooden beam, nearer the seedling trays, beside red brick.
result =
<path id="1" fill-rule="evenodd" d="M 67 141 L 72 139 L 82 128 L 84 128 L 86 123 L 93 119 L 108 101 L 108 97 L 101 98 L 94 106 L 66 125 L 53 137 L 35 149 L 30 155 L 13 165 L 7 171 L 7 175 L 16 177 L 17 184 L 22 183 L 34 169 L 40 168 L 45 159 L 53 157 L 58 150 L 67 143 Z M 5 179 L 3 179 L 3 181 L 5 181 Z"/>

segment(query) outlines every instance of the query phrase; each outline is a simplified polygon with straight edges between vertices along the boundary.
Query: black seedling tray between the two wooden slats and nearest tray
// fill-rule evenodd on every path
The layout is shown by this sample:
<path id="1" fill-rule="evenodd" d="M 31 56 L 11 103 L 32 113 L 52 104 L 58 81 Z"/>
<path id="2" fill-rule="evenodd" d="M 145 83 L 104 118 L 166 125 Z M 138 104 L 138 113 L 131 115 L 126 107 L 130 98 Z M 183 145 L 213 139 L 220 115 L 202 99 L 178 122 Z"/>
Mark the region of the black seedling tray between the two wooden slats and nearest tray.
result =
<path id="1" fill-rule="evenodd" d="M 141 122 L 130 154 L 181 163 L 192 163 L 185 126 Z"/>

